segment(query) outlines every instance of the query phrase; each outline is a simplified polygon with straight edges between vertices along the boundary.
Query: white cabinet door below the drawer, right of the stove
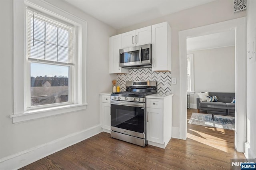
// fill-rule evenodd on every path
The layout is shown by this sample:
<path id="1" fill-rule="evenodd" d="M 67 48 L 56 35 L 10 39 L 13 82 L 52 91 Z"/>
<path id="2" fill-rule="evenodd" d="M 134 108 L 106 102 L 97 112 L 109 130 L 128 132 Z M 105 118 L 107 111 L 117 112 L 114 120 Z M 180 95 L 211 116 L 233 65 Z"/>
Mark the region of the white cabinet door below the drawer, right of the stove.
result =
<path id="1" fill-rule="evenodd" d="M 147 140 L 159 144 L 164 143 L 163 109 L 147 108 Z"/>

